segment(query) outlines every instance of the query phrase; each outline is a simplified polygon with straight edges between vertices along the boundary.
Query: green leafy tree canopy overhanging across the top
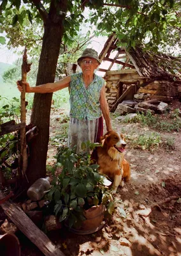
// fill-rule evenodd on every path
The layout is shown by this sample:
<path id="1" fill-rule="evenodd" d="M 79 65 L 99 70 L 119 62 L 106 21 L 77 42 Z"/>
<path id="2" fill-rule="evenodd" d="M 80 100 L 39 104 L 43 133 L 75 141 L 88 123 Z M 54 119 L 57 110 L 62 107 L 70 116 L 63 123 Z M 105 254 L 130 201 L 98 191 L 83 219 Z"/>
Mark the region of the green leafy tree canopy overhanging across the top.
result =
<path id="1" fill-rule="evenodd" d="M 41 44 L 42 17 L 46 12 L 48 13 L 50 4 L 53 2 L 57 4 L 58 16 L 61 17 L 64 12 L 59 5 L 61 1 L 44 0 L 41 3 L 38 2 L 40 4 L 38 5 L 33 0 L 29 3 L 24 0 L 24 4 L 20 4 L 21 1 L 3 0 L 0 22 L 3 24 L 3 31 L 8 32 L 8 38 L 11 41 L 8 44 L 33 46 L 38 44 L 38 41 Z M 65 45 L 73 44 L 80 24 L 90 22 L 91 26 L 96 26 L 96 35 L 100 33 L 109 35 L 114 32 L 120 44 L 126 47 L 144 44 L 145 48 L 157 51 L 158 46 L 164 48 L 168 48 L 168 45 L 180 46 L 181 3 L 179 0 L 67 0 L 65 4 L 67 4 L 67 10 L 63 21 L 64 36 L 62 38 Z M 83 16 L 85 7 L 91 10 L 89 19 Z M 4 44 L 2 37 L 0 42 Z"/>

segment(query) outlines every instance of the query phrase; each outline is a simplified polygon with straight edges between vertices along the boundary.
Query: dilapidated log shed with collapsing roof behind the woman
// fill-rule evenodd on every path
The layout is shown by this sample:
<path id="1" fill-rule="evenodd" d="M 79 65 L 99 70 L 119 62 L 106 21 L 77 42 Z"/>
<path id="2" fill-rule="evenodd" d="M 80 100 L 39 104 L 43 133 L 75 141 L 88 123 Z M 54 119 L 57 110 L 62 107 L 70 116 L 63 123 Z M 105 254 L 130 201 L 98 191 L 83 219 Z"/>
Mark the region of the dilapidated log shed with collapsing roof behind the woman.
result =
<path id="1" fill-rule="evenodd" d="M 180 57 L 143 51 L 138 46 L 127 50 L 118 45 L 119 40 L 113 34 L 99 54 L 99 72 L 106 80 L 110 111 L 115 111 L 122 100 L 133 99 L 139 93 L 148 100 L 181 99 Z"/>

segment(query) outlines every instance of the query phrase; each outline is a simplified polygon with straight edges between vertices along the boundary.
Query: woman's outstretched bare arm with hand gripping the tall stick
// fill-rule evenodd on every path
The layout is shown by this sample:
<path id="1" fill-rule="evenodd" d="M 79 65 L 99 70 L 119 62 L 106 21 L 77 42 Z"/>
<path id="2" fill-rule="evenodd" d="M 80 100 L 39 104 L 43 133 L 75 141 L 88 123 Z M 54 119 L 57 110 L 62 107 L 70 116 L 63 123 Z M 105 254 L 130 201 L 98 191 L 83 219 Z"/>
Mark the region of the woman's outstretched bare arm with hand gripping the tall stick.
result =
<path id="1" fill-rule="evenodd" d="M 62 90 L 69 86 L 69 83 L 71 82 L 71 76 L 66 76 L 65 78 L 61 79 L 60 81 L 57 81 L 55 83 L 47 83 L 47 84 L 41 84 L 38 86 L 29 86 L 29 83 L 27 82 L 20 82 L 17 81 L 18 90 L 22 92 L 22 86 L 21 83 L 25 84 L 25 92 L 34 92 L 34 93 L 50 93 L 50 92 L 57 92 L 58 90 Z"/>

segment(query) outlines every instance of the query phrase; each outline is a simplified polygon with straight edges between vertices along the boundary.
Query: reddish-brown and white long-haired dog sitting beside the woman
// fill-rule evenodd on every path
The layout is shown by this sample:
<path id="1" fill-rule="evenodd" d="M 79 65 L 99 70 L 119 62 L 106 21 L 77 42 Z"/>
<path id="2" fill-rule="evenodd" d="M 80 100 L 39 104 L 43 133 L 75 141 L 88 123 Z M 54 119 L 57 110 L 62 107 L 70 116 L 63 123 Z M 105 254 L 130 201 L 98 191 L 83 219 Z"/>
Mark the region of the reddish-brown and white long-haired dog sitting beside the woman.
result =
<path id="1" fill-rule="evenodd" d="M 126 141 L 122 134 L 115 131 L 107 132 L 101 137 L 102 147 L 98 147 L 99 172 L 108 175 L 113 180 L 113 191 L 115 194 L 117 187 L 124 186 L 125 181 L 131 178 L 129 163 L 124 159 Z"/>

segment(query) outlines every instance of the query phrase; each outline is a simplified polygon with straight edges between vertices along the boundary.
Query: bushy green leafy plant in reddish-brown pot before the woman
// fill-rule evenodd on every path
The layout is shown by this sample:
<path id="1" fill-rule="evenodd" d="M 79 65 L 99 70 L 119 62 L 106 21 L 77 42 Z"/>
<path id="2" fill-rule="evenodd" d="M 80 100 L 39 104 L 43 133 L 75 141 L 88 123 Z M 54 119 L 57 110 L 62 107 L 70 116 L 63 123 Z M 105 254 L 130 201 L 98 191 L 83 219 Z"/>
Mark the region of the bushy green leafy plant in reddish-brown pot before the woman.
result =
<path id="1" fill-rule="evenodd" d="M 93 164 L 91 154 L 87 154 L 87 148 L 92 150 L 98 146 L 101 145 L 82 143 L 83 153 L 79 155 L 76 148 L 59 148 L 57 167 L 62 170 L 57 177 L 54 175 L 48 193 L 59 221 L 64 221 L 72 230 L 87 230 L 89 234 L 101 227 L 104 212 L 112 214 L 114 209 L 108 191 L 111 182 L 98 172 L 98 164 Z"/>

